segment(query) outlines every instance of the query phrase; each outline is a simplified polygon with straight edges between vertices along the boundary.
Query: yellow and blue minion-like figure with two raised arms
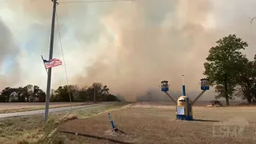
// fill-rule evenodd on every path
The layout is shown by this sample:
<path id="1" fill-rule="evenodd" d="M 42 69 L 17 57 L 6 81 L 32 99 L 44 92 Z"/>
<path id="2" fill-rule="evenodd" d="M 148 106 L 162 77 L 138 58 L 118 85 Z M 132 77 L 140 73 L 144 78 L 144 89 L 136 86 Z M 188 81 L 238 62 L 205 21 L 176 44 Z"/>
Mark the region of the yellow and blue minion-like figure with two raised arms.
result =
<path id="1" fill-rule="evenodd" d="M 184 82 L 184 75 L 182 75 L 182 96 L 178 98 L 177 101 L 174 100 L 173 97 L 168 93 L 169 85 L 168 81 L 162 81 L 162 91 L 167 94 L 169 98 L 177 105 L 176 106 L 176 118 L 178 120 L 186 120 L 193 121 L 193 105 L 198 99 L 206 92 L 206 90 L 210 90 L 210 82 L 207 78 L 201 79 L 201 90 L 202 92 L 198 95 L 197 98 L 192 101 L 189 97 L 186 96 L 186 86 Z M 167 87 L 167 89 L 166 89 Z"/>

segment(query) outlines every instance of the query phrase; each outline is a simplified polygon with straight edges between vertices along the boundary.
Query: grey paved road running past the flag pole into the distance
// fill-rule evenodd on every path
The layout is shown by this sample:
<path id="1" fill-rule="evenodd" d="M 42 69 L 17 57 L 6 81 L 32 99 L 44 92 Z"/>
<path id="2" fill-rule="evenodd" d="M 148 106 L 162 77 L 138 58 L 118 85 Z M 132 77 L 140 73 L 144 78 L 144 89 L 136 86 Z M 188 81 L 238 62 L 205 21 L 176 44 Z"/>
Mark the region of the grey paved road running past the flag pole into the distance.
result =
<path id="1" fill-rule="evenodd" d="M 74 110 L 74 109 L 81 109 L 84 107 L 110 105 L 113 103 L 114 102 L 102 102 L 102 103 L 98 103 L 98 104 L 85 105 L 85 106 L 72 106 L 72 109 Z M 52 108 L 52 109 L 49 109 L 49 113 L 70 110 L 70 109 L 71 109 L 71 106 Z M 24 115 L 33 115 L 33 114 L 45 114 L 45 110 L 32 110 L 32 111 L 24 111 L 24 112 L 17 112 L 17 113 L 0 114 L 0 118 L 10 118 L 10 117 L 18 117 L 18 116 L 24 116 Z"/>

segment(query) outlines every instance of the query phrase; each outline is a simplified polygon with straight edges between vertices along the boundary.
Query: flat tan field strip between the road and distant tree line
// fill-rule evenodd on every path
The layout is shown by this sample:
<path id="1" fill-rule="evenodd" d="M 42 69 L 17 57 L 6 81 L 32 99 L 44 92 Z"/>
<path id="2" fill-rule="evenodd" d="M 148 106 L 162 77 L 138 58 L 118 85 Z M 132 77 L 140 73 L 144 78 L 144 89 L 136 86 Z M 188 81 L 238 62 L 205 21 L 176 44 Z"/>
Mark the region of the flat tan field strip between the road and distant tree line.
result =
<path id="1" fill-rule="evenodd" d="M 85 106 L 90 105 L 93 102 L 51 102 L 50 108 L 59 108 L 59 107 L 66 107 L 66 106 Z M 2 104 L 2 103 L 1 103 Z M 1 105 L 0 104 L 0 105 Z M 14 102 L 5 102 L 3 106 L 0 106 L 0 114 L 6 113 L 15 113 L 15 112 L 23 112 L 23 111 L 31 111 L 31 110 L 43 110 L 45 109 L 45 103 L 42 102 L 24 102 L 24 103 L 14 103 Z"/>

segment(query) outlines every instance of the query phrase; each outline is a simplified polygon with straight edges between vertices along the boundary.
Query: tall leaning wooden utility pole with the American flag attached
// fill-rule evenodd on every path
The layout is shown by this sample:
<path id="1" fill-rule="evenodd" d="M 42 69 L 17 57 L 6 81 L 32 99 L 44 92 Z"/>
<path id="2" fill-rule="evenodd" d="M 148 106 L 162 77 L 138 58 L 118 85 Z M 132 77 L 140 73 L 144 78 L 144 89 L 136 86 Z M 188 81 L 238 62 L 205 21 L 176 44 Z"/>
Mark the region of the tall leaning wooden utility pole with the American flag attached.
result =
<path id="1" fill-rule="evenodd" d="M 54 51 L 54 26 L 55 26 L 55 16 L 56 16 L 56 6 L 57 6 L 57 3 L 58 3 L 57 0 L 51 0 L 51 1 L 54 2 L 54 6 L 53 6 L 53 16 L 52 16 L 52 22 L 51 22 L 49 60 L 53 58 L 53 51 Z M 50 81 L 51 81 L 51 68 L 48 69 L 48 75 L 47 75 L 45 122 L 47 122 L 47 120 L 48 120 L 48 113 L 49 113 Z"/>

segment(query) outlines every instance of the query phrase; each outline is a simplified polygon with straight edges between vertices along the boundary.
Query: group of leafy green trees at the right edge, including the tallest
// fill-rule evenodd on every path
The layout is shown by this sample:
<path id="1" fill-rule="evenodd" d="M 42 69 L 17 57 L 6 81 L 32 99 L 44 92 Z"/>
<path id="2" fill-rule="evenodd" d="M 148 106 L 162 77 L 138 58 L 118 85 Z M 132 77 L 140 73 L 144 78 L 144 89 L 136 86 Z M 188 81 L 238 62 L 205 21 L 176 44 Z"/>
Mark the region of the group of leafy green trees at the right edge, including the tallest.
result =
<path id="1" fill-rule="evenodd" d="M 249 104 L 256 102 L 256 55 L 249 60 L 242 53 L 248 43 L 235 34 L 216 43 L 209 50 L 203 73 L 217 92 L 215 98 L 225 98 L 226 106 L 236 97 L 246 99 Z"/>

